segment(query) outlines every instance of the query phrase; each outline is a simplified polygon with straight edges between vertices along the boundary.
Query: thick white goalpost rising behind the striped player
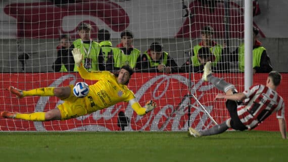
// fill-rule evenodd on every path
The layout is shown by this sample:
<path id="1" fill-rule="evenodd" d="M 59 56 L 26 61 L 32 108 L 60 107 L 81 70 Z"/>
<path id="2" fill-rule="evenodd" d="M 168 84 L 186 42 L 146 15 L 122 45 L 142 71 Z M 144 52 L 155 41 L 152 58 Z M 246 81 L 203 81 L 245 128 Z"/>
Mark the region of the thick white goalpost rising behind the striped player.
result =
<path id="1" fill-rule="evenodd" d="M 253 83 L 253 35 L 252 35 L 252 1 L 245 0 L 244 2 L 244 46 L 245 46 L 245 72 L 244 82 L 245 90 L 248 90 Z"/>

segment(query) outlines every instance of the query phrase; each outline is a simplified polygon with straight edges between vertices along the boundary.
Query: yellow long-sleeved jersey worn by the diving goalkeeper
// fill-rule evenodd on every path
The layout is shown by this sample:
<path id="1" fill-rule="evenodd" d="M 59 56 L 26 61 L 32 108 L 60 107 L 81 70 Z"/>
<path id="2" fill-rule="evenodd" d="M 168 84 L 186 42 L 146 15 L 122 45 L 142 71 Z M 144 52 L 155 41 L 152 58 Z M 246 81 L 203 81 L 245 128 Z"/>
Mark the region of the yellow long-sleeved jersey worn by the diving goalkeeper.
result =
<path id="1" fill-rule="evenodd" d="M 78 72 L 83 79 L 97 80 L 89 85 L 89 93 L 85 97 L 87 109 L 102 110 L 121 101 L 135 98 L 134 93 L 126 85 L 118 84 L 117 78 L 109 71 L 91 71 L 81 66 Z"/>

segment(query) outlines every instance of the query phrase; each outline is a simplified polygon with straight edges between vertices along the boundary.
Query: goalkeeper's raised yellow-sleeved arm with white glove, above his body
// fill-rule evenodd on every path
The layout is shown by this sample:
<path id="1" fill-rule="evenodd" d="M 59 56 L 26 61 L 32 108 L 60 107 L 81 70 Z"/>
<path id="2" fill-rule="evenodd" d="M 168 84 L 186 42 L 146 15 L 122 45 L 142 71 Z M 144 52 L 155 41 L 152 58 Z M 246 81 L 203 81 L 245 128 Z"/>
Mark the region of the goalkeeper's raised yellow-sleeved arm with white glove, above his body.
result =
<path id="1" fill-rule="evenodd" d="M 100 80 L 104 76 L 104 74 L 102 74 L 102 72 L 92 71 L 90 73 L 84 68 L 84 66 L 82 65 L 83 55 L 80 52 L 79 48 L 74 48 L 72 50 L 72 54 L 73 54 L 73 58 L 75 61 L 75 65 L 77 66 L 77 69 L 78 69 L 78 72 L 79 72 L 81 78 L 87 79 L 87 80 Z M 97 75 L 95 75 L 96 73 L 97 73 Z"/>

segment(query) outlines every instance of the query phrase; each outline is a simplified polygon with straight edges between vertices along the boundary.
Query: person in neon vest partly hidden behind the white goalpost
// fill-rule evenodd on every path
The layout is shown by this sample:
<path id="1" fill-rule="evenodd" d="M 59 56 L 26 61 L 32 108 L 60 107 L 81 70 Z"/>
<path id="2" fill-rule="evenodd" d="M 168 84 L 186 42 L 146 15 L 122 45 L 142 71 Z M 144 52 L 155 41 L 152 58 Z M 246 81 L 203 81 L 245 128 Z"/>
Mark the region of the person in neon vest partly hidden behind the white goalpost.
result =
<path id="1" fill-rule="evenodd" d="M 253 27 L 253 74 L 269 73 L 273 70 L 270 58 L 266 53 L 266 48 L 257 39 L 259 29 Z M 244 72 L 244 43 L 242 43 L 235 51 L 232 52 L 231 61 L 239 62 L 239 72 Z"/>

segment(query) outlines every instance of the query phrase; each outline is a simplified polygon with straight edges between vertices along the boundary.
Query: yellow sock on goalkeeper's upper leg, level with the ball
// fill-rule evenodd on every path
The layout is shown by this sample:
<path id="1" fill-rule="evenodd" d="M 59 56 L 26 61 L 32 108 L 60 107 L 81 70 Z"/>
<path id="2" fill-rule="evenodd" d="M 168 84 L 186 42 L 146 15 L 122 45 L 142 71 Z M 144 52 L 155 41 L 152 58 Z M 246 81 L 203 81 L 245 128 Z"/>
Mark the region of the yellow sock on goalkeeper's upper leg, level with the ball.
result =
<path id="1" fill-rule="evenodd" d="M 39 96 L 54 96 L 54 89 L 55 87 L 45 87 L 45 88 L 36 88 L 31 90 L 23 90 L 23 96 L 33 96 L 33 95 L 39 95 Z"/>

